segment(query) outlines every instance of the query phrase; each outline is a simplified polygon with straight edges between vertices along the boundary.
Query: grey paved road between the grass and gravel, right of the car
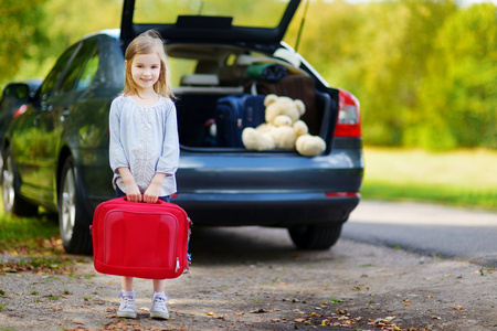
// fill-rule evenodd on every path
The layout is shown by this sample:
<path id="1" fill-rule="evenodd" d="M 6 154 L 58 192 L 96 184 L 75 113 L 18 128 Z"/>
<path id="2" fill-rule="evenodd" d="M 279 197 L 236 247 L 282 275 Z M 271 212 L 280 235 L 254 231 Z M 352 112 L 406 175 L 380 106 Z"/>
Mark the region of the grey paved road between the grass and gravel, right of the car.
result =
<path id="1" fill-rule="evenodd" d="M 497 267 L 497 213 L 361 201 L 341 237 Z"/>

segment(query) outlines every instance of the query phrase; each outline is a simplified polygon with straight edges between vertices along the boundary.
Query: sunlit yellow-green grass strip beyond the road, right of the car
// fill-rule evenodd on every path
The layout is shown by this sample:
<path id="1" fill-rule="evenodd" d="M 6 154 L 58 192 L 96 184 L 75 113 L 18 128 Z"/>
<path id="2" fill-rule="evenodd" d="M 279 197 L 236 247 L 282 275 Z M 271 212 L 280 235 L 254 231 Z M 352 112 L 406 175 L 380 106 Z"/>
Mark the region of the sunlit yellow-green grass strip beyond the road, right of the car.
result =
<path id="1" fill-rule="evenodd" d="M 497 151 L 364 148 L 361 194 L 497 211 Z"/>

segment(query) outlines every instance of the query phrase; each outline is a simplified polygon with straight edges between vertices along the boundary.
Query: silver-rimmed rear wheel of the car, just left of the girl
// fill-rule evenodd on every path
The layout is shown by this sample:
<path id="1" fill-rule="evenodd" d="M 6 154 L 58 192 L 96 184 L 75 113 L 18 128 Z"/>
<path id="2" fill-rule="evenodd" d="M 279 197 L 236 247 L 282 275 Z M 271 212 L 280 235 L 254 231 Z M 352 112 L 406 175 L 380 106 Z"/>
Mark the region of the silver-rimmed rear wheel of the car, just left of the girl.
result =
<path id="1" fill-rule="evenodd" d="M 62 168 L 59 192 L 59 227 L 64 249 L 71 254 L 91 254 L 92 238 L 87 213 L 82 201 L 73 158 Z"/>

